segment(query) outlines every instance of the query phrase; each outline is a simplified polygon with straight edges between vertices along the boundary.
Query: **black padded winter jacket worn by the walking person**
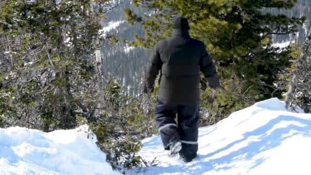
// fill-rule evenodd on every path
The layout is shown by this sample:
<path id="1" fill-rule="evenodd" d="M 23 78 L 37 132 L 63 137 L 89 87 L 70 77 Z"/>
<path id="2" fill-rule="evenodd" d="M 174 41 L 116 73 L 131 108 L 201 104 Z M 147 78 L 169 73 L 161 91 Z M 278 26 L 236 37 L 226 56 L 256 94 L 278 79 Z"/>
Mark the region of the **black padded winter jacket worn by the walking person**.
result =
<path id="1" fill-rule="evenodd" d="M 188 30 L 173 29 L 172 37 L 161 40 L 149 58 L 144 91 L 153 90 L 160 70 L 158 99 L 171 105 L 197 105 L 202 71 L 211 88 L 219 86 L 212 58 L 202 41 L 189 36 Z"/>

